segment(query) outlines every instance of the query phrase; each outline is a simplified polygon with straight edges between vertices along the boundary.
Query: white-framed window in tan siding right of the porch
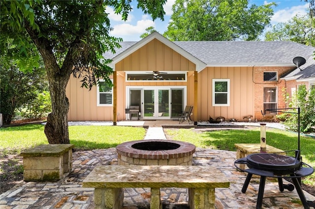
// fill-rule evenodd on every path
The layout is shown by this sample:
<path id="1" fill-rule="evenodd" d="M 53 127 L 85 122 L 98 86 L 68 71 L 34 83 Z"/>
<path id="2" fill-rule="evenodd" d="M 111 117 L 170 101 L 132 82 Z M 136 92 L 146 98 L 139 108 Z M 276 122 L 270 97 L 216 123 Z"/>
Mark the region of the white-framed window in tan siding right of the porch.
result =
<path id="1" fill-rule="evenodd" d="M 230 105 L 230 79 L 213 79 L 212 89 L 213 106 Z"/>

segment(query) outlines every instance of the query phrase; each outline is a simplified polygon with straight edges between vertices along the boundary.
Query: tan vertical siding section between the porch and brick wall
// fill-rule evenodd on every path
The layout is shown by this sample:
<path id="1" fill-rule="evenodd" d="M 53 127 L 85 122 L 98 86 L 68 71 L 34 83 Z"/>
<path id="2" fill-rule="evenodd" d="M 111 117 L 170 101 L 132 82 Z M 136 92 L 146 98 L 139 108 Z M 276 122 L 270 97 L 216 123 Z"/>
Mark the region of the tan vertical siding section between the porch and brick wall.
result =
<path id="1" fill-rule="evenodd" d="M 212 79 L 230 79 L 230 105 L 212 106 Z M 198 75 L 198 120 L 241 118 L 253 114 L 252 67 L 207 67 Z"/>

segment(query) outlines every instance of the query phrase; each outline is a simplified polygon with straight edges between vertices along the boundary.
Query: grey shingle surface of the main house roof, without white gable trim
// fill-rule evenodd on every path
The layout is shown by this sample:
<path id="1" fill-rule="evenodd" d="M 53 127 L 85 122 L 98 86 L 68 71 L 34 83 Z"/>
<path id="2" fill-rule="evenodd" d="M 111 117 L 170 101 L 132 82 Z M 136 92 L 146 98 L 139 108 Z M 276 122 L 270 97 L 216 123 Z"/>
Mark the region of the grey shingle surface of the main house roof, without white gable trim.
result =
<path id="1" fill-rule="evenodd" d="M 105 58 L 113 58 L 137 42 L 122 42 L 116 54 L 107 52 Z M 222 64 L 293 64 L 296 56 L 308 59 L 314 47 L 291 41 L 175 41 L 177 46 L 189 52 L 207 65 Z"/>

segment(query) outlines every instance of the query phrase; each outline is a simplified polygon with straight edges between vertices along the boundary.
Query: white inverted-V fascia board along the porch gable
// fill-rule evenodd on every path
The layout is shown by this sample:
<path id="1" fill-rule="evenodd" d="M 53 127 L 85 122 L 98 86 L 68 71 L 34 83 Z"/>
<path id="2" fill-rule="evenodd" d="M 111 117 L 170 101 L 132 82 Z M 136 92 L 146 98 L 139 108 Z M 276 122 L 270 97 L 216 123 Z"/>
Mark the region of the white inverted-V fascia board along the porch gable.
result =
<path id="1" fill-rule="evenodd" d="M 162 42 L 166 46 L 170 47 L 175 52 L 178 52 L 179 54 L 181 54 L 182 56 L 184 56 L 185 58 L 190 60 L 192 63 L 194 63 L 196 65 L 196 71 L 200 72 L 201 70 L 203 70 L 206 67 L 206 64 L 204 62 L 202 62 L 200 59 L 191 55 L 189 52 L 183 50 L 182 48 L 180 48 L 179 46 L 177 46 L 176 44 L 174 44 L 173 42 L 171 42 L 170 40 L 168 40 L 167 38 L 165 38 L 164 36 L 162 36 L 161 34 L 159 34 L 156 31 L 151 33 L 147 37 L 141 39 L 136 44 L 134 44 L 133 46 L 126 49 L 124 52 L 121 52 L 120 54 L 118 54 L 117 56 L 112 58 L 113 61 L 110 63 L 109 66 L 114 69 L 116 63 L 118 63 L 119 61 L 124 59 L 129 54 L 131 54 L 131 53 L 137 51 L 138 49 L 140 49 L 141 47 L 145 46 L 146 44 L 148 44 L 150 41 L 152 41 L 154 39 L 159 40 L 160 42 Z M 114 69 L 114 71 L 115 71 L 115 69 Z"/>

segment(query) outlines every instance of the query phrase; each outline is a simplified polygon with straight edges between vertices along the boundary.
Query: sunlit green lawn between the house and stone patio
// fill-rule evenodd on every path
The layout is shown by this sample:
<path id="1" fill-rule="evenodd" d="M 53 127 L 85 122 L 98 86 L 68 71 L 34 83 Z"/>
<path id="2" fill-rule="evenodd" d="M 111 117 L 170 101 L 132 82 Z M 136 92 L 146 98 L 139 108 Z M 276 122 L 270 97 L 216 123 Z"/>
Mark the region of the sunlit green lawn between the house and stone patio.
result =
<path id="1" fill-rule="evenodd" d="M 236 151 L 235 143 L 260 143 L 260 128 L 249 130 L 198 131 L 198 129 L 164 129 L 170 139 L 186 141 L 196 147 Z M 126 141 L 143 139 L 144 128 L 121 126 L 70 126 L 70 143 L 76 149 L 106 149 Z M 284 151 L 297 149 L 297 134 L 268 129 L 267 144 Z M 42 125 L 0 128 L 0 153 L 20 154 L 22 150 L 47 144 Z M 315 139 L 301 135 L 303 161 L 315 167 Z M 293 154 L 293 152 L 292 152 Z M 315 186 L 315 174 L 304 183 Z"/>

